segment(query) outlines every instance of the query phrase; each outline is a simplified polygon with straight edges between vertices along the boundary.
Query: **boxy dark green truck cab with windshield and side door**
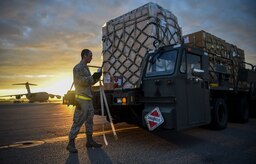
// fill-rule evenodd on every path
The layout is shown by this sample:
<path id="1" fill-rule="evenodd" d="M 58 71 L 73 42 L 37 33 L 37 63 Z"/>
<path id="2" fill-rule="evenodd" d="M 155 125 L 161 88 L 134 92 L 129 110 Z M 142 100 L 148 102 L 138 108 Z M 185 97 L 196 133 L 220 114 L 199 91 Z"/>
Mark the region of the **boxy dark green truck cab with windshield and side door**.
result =
<path id="1" fill-rule="evenodd" d="M 158 107 L 163 127 L 184 129 L 211 121 L 208 54 L 185 45 L 161 47 L 147 53 L 140 88 L 142 117 Z M 143 122 L 146 126 L 146 122 Z"/>

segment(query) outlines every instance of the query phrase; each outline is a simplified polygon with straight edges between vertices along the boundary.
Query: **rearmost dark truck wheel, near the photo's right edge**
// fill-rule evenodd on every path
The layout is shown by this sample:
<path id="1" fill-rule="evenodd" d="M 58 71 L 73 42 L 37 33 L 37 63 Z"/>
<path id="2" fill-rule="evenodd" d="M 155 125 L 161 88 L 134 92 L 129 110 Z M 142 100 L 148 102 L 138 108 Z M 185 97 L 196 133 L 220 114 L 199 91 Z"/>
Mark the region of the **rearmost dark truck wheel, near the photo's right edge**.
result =
<path id="1" fill-rule="evenodd" d="M 245 123 L 249 120 L 249 106 L 246 98 L 242 98 L 236 105 L 236 121 Z"/>

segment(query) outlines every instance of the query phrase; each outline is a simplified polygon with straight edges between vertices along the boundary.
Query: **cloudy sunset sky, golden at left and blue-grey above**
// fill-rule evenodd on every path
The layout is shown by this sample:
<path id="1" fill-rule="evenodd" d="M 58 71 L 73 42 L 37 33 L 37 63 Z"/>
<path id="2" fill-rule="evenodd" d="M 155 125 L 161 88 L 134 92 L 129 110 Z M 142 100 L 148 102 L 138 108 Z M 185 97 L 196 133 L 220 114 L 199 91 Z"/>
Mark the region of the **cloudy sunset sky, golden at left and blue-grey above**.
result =
<path id="1" fill-rule="evenodd" d="M 147 0 L 1 0 L 0 95 L 47 91 L 63 95 L 83 48 L 101 65 L 102 25 Z M 183 34 L 205 30 L 245 50 L 256 64 L 256 1 L 152 0 L 178 18 Z M 92 70 L 93 72 L 94 70 Z"/>

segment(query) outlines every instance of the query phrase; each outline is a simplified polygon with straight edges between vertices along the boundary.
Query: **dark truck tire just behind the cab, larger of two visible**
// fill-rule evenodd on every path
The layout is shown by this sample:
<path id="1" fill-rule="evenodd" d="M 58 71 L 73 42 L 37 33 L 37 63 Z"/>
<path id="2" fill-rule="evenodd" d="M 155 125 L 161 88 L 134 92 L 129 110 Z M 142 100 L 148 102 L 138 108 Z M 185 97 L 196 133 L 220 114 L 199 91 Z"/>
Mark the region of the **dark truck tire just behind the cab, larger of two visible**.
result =
<path id="1" fill-rule="evenodd" d="M 211 127 L 213 129 L 222 130 L 227 128 L 228 110 L 224 99 L 216 98 L 214 100 L 211 118 Z"/>

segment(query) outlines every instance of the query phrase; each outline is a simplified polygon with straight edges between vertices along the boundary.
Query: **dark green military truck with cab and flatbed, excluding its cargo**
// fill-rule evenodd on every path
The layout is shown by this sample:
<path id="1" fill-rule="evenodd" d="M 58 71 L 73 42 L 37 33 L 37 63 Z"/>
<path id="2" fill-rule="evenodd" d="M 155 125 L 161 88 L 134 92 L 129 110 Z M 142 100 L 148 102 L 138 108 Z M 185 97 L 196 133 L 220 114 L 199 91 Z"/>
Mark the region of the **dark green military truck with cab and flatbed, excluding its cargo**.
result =
<path id="1" fill-rule="evenodd" d="M 245 64 L 184 44 L 160 47 L 145 55 L 138 88 L 108 90 L 112 117 L 146 125 L 145 115 L 158 107 L 168 129 L 209 123 L 224 129 L 228 117 L 247 122 L 255 107 L 256 70 Z"/>

